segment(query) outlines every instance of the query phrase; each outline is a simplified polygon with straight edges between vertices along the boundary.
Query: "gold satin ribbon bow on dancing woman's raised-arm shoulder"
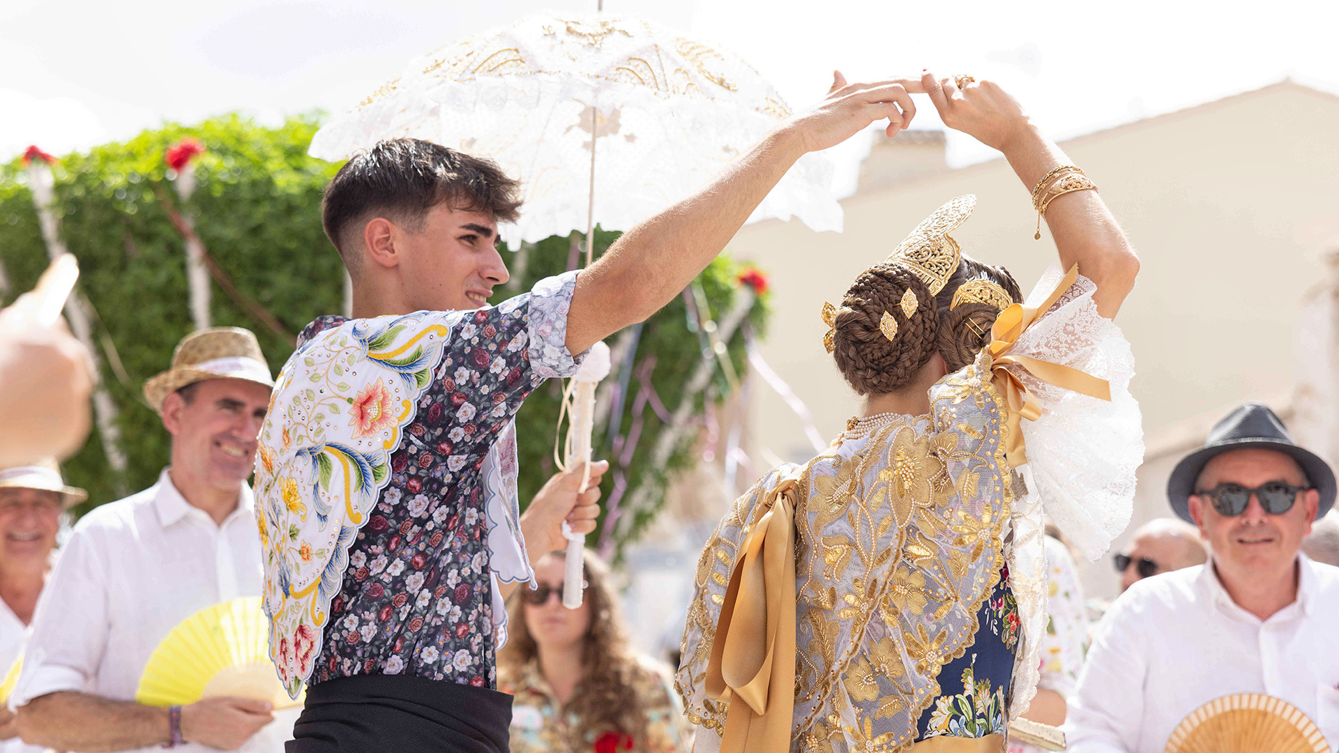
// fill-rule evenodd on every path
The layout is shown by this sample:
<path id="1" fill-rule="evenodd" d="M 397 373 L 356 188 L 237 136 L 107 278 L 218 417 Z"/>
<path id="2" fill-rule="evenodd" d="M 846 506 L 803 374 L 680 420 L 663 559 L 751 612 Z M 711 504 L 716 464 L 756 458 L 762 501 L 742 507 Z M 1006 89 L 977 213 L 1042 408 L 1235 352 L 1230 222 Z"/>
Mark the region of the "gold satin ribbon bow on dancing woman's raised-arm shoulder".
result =
<path id="1" fill-rule="evenodd" d="M 1098 379 L 1078 368 L 1051 363 L 1050 360 L 1011 352 L 1019 336 L 1043 314 L 1050 311 L 1055 305 L 1055 301 L 1078 279 L 1079 265 L 1075 264 L 1070 267 L 1070 271 L 1065 273 L 1065 279 L 1060 280 L 1060 284 L 1055 287 L 1042 305 L 1034 308 L 1015 303 L 1002 311 L 999 318 L 995 319 L 995 324 L 991 326 L 991 344 L 987 346 L 992 359 L 991 371 L 994 372 L 994 378 L 991 383 L 995 385 L 995 389 L 1004 398 L 1004 403 L 1008 407 L 1008 419 L 1006 421 L 1008 426 L 1008 442 L 1004 452 L 1010 468 L 1018 468 L 1027 462 L 1027 453 L 1023 448 L 1023 433 L 1019 427 L 1024 418 L 1028 421 L 1040 418 L 1042 406 L 1027 391 L 1027 385 L 1016 374 L 1006 368 L 1006 366 L 1018 366 L 1042 382 L 1055 385 L 1056 387 L 1065 387 L 1066 390 L 1073 390 L 1099 401 L 1111 401 L 1111 386 L 1106 379 Z"/>

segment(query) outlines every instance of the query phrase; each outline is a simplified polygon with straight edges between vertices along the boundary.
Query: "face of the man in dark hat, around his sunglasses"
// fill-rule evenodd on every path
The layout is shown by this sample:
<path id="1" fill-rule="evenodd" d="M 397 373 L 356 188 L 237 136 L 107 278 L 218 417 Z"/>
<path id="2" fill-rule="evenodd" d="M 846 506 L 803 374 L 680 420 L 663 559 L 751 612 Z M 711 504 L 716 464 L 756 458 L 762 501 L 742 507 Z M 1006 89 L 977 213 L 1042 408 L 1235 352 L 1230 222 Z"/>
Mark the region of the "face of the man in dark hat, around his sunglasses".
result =
<path id="1" fill-rule="evenodd" d="M 1220 484 L 1237 484 L 1255 489 L 1269 481 L 1306 486 L 1297 464 L 1283 453 L 1263 449 L 1232 450 L 1209 461 L 1200 473 L 1197 490 Z M 1320 494 L 1315 489 L 1299 492 L 1292 506 L 1281 515 L 1269 515 L 1251 494 L 1245 512 L 1225 516 L 1213 508 L 1206 494 L 1190 496 L 1190 516 L 1213 549 L 1220 575 L 1281 572 L 1292 565 L 1302 539 L 1311 532 Z"/>

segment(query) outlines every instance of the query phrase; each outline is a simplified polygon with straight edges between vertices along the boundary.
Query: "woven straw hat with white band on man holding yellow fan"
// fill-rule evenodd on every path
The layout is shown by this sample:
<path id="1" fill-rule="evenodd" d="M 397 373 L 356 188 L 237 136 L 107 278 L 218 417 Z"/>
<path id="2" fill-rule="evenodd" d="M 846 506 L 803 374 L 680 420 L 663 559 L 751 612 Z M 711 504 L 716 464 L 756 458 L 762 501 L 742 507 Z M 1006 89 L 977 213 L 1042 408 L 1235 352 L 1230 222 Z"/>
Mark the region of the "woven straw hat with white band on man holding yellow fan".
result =
<path id="1" fill-rule="evenodd" d="M 167 395 L 206 379 L 245 379 L 274 386 L 269 363 L 250 330 L 212 327 L 191 332 L 177 343 L 171 368 L 145 382 L 145 399 L 161 414 Z"/>

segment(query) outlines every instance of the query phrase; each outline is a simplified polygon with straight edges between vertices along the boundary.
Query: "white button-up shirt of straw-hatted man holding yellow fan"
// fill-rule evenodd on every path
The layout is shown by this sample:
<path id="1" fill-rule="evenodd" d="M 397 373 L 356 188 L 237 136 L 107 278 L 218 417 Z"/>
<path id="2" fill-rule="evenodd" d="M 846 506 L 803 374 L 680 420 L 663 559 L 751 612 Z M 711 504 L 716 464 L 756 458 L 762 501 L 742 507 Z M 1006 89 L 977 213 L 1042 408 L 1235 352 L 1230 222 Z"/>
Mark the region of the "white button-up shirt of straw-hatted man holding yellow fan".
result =
<path id="1" fill-rule="evenodd" d="M 95 508 L 75 525 L 43 590 L 11 707 L 62 690 L 134 701 L 149 657 L 181 620 L 261 594 L 260 557 L 246 485 L 222 525 L 181 496 L 167 469 L 149 489 Z M 276 713 L 241 750 L 281 752 L 296 715 Z"/>

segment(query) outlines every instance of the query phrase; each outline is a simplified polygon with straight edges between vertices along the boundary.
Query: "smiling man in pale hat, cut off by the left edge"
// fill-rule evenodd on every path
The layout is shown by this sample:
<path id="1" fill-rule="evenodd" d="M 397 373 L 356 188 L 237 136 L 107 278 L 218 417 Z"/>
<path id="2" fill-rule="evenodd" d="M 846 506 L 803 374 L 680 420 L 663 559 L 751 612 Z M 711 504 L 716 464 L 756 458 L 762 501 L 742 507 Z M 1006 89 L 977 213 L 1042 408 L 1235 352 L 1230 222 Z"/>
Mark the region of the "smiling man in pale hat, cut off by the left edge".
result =
<path id="1" fill-rule="evenodd" d="M 60 516 L 88 498 L 60 477 L 52 458 L 0 470 L 0 701 L 23 655 L 28 624 L 51 569 Z M 0 752 L 36 753 L 19 740 L 13 711 L 0 709 Z"/>

